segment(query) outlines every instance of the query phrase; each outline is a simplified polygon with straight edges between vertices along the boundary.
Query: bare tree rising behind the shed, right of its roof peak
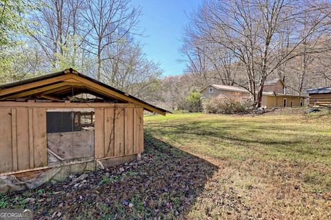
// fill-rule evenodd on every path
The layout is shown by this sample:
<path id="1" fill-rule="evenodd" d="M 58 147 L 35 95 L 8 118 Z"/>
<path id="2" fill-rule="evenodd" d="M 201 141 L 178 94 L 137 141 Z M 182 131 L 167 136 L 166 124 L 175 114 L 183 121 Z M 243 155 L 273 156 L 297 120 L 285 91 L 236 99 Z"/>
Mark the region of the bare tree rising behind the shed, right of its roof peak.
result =
<path id="1" fill-rule="evenodd" d="M 103 52 L 131 33 L 141 12 L 130 5 L 130 0 L 87 0 L 85 7 L 83 17 L 88 25 L 84 34 L 84 42 L 88 45 L 85 50 L 97 56 L 96 78 L 100 80 L 101 63 L 117 56 L 103 56 Z"/>

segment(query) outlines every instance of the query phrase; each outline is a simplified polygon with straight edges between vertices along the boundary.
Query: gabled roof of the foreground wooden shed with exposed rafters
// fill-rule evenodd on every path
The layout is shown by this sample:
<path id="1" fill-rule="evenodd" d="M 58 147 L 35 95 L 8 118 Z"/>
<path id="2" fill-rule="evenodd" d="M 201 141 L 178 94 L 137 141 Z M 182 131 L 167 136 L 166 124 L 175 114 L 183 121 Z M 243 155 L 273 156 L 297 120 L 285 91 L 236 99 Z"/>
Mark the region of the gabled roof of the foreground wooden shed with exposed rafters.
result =
<path id="1" fill-rule="evenodd" d="M 165 115 L 167 112 L 171 113 L 110 85 L 101 83 L 94 78 L 80 74 L 72 68 L 0 85 L 0 101 L 26 98 L 61 102 L 68 98 L 68 96 L 85 93 L 102 98 L 103 102 L 133 103 L 143 107 L 147 111 L 156 112 L 161 115 Z"/>

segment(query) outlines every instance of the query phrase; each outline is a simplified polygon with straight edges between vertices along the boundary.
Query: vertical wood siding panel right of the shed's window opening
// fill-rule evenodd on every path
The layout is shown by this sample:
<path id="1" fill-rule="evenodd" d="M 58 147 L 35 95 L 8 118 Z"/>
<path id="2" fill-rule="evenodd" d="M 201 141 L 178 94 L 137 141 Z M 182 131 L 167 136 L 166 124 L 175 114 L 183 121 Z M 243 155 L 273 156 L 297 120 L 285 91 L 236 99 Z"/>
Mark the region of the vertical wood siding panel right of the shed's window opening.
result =
<path id="1" fill-rule="evenodd" d="M 96 158 L 117 157 L 143 151 L 143 108 L 95 109 Z"/>

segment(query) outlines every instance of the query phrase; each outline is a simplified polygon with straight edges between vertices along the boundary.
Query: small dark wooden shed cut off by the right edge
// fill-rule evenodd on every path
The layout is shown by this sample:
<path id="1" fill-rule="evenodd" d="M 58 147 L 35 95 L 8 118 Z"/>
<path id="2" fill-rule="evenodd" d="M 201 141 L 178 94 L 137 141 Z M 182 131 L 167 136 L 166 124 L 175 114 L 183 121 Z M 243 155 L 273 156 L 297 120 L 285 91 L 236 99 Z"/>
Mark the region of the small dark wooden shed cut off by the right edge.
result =
<path id="1" fill-rule="evenodd" d="M 310 106 L 331 106 L 331 87 L 307 89 Z"/>

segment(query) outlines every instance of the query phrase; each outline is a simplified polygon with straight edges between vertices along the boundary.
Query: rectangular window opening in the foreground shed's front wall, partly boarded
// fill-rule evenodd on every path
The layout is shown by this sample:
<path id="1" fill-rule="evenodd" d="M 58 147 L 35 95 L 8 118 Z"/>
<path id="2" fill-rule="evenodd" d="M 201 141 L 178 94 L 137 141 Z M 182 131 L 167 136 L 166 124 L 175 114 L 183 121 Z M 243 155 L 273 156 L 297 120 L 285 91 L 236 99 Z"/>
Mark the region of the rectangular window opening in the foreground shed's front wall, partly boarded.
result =
<path id="1" fill-rule="evenodd" d="M 94 157 L 94 109 L 49 109 L 48 164 Z"/>

